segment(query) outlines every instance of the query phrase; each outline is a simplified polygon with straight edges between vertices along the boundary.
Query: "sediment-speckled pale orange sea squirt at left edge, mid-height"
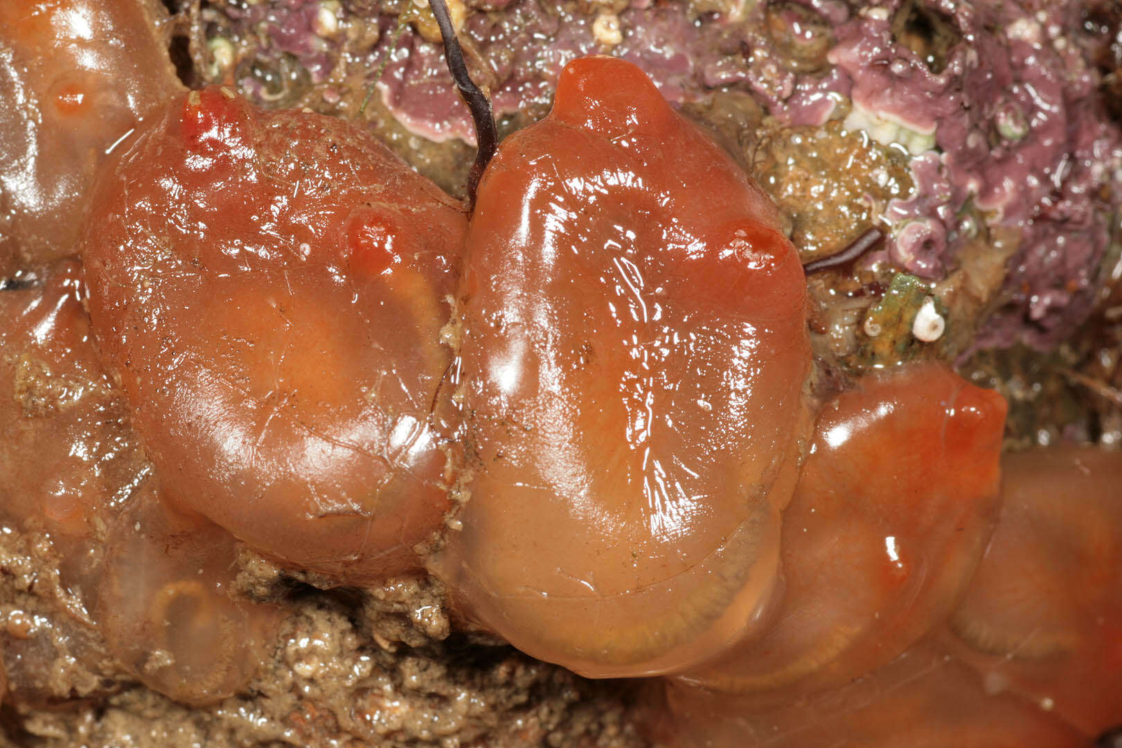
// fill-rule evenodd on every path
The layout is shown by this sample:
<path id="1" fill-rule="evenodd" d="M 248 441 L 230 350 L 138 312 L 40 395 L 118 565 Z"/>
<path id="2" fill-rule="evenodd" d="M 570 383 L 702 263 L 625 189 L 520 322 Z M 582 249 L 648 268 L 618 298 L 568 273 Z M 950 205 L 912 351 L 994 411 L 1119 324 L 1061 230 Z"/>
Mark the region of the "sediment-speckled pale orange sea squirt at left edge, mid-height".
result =
<path id="1" fill-rule="evenodd" d="M 0 517 L 75 547 L 150 471 L 93 348 L 80 277 L 64 261 L 42 286 L 0 292 Z"/>

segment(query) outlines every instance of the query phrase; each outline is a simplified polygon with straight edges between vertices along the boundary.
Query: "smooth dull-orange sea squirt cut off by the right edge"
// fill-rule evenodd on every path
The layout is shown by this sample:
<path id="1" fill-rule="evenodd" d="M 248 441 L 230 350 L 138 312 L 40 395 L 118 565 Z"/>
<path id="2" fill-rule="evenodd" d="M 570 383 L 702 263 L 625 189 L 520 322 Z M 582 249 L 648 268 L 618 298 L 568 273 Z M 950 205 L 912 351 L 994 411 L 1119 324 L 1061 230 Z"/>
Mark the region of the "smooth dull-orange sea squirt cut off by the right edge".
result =
<path id="1" fill-rule="evenodd" d="M 945 646 L 991 690 L 1097 735 L 1122 722 L 1122 454 L 1060 446 L 1002 463 L 1000 523 Z"/>

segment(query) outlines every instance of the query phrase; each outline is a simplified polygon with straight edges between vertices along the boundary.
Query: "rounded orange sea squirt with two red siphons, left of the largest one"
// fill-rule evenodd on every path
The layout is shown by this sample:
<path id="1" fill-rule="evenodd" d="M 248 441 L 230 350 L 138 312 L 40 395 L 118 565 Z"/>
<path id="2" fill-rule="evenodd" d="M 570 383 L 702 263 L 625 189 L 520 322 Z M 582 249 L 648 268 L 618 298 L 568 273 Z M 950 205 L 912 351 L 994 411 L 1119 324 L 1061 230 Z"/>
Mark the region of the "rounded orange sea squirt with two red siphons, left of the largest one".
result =
<path id="1" fill-rule="evenodd" d="M 362 581 L 448 509 L 431 419 L 466 218 L 340 120 L 191 92 L 107 164 L 90 313 L 167 497 Z"/>

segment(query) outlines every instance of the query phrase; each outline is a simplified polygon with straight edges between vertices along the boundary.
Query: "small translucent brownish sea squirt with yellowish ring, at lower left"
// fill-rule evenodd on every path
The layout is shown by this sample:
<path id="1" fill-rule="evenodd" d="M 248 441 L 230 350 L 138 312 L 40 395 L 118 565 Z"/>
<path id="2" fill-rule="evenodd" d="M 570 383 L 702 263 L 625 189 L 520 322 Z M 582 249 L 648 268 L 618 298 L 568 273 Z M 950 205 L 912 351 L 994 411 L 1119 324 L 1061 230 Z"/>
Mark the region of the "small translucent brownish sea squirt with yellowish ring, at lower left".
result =
<path id="1" fill-rule="evenodd" d="M 212 703 L 245 689 L 272 655 L 280 611 L 233 593 L 237 541 L 218 525 L 149 498 L 113 525 L 104 553 L 99 632 L 148 687 Z"/>

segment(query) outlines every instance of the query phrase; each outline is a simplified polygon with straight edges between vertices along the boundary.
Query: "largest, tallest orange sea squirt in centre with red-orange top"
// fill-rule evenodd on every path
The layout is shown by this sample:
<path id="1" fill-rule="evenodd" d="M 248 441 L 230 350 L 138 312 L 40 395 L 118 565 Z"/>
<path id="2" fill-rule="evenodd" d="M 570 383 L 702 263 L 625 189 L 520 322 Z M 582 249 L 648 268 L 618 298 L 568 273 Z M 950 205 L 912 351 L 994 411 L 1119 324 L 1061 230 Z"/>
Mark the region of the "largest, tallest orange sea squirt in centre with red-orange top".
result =
<path id="1" fill-rule="evenodd" d="M 764 617 L 806 435 L 803 276 L 744 170 L 627 63 L 570 63 L 479 186 L 458 296 L 467 502 L 435 569 L 607 677 Z"/>

